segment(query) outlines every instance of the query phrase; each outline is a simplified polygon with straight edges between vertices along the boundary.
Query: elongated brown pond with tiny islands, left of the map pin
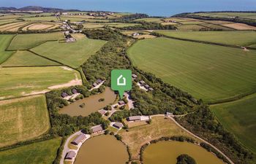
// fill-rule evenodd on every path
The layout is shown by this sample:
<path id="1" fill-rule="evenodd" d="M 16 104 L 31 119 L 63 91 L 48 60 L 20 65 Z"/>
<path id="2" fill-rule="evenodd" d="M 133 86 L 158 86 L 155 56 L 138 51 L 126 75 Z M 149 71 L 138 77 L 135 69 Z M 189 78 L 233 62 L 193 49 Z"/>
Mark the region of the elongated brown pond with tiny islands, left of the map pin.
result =
<path id="1" fill-rule="evenodd" d="M 100 98 L 105 98 L 105 101 L 100 101 Z M 60 114 L 69 114 L 70 116 L 88 116 L 93 112 L 97 112 L 99 109 L 112 104 L 116 100 L 116 94 L 110 87 L 106 87 L 103 93 L 98 95 L 91 95 L 89 98 L 83 98 L 81 100 L 75 101 L 68 106 L 64 106 L 60 110 Z M 81 105 L 84 104 L 83 107 Z"/>

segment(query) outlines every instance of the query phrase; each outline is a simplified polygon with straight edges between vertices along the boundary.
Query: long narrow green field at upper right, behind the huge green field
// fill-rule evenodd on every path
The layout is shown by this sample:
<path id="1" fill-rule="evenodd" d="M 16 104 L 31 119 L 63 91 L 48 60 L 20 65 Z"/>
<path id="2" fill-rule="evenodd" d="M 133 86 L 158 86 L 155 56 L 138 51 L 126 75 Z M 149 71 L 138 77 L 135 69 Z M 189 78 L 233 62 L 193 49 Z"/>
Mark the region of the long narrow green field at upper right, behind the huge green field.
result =
<path id="1" fill-rule="evenodd" d="M 249 46 L 256 44 L 255 31 L 157 31 L 159 34 L 182 39 Z"/>

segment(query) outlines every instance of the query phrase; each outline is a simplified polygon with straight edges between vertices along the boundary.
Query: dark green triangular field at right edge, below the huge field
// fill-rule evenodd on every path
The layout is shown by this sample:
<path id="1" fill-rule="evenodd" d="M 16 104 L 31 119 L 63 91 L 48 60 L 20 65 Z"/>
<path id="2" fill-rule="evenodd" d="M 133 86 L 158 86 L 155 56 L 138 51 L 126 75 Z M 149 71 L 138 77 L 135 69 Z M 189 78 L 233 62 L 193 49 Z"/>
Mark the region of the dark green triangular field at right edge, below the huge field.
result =
<path id="1" fill-rule="evenodd" d="M 211 109 L 227 130 L 256 153 L 256 94 Z"/>

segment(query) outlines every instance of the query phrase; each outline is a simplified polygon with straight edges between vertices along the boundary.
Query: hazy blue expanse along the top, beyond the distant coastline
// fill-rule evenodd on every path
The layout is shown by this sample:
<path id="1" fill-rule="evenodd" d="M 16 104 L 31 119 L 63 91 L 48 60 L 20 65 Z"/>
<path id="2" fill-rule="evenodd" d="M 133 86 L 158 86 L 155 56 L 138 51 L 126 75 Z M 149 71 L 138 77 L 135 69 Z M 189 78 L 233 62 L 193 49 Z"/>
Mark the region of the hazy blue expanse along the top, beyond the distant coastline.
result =
<path id="1" fill-rule="evenodd" d="M 151 16 L 170 16 L 181 12 L 256 11 L 256 0 L 0 0 L 0 7 L 26 6 L 140 12 Z"/>

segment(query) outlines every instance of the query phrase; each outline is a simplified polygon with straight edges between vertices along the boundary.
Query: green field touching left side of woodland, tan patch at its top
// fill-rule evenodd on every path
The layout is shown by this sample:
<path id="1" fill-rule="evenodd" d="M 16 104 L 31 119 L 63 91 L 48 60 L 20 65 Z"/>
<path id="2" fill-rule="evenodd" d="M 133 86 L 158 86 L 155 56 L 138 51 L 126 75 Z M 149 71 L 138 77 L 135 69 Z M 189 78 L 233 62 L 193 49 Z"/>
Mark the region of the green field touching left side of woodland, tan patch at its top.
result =
<path id="1" fill-rule="evenodd" d="M 78 35 L 83 38 L 80 38 Z M 77 68 L 105 44 L 105 41 L 87 39 L 83 34 L 78 35 L 77 42 L 46 42 L 31 50 L 39 55 L 58 60 L 68 66 Z"/>

